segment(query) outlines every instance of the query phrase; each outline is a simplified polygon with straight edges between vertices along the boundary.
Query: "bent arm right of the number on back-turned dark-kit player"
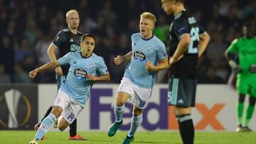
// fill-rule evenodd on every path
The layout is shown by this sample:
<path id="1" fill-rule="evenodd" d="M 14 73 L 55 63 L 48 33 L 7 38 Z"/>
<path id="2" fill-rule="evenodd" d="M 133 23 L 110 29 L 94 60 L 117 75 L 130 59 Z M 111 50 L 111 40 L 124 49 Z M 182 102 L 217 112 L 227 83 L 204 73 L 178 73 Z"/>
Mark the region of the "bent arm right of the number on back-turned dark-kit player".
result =
<path id="1" fill-rule="evenodd" d="M 207 32 L 199 35 L 198 57 L 201 57 L 201 55 L 203 55 L 203 52 L 206 50 L 206 47 L 207 47 L 209 41 L 210 41 L 210 35 L 208 35 Z"/>

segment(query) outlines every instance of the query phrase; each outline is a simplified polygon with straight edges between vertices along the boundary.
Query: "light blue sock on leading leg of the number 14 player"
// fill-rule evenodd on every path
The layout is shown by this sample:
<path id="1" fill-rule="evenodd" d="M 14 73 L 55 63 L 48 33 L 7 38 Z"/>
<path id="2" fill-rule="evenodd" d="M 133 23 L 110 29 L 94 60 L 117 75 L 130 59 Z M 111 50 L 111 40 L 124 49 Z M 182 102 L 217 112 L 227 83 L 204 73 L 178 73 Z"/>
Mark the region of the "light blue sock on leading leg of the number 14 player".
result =
<path id="1" fill-rule="evenodd" d="M 53 113 L 50 113 L 46 118 L 44 118 L 40 127 L 38 128 L 38 131 L 36 132 L 34 140 L 41 140 L 43 135 L 45 135 L 49 131 L 50 127 L 53 126 L 54 121 L 57 121 L 57 118 L 53 115 Z"/>

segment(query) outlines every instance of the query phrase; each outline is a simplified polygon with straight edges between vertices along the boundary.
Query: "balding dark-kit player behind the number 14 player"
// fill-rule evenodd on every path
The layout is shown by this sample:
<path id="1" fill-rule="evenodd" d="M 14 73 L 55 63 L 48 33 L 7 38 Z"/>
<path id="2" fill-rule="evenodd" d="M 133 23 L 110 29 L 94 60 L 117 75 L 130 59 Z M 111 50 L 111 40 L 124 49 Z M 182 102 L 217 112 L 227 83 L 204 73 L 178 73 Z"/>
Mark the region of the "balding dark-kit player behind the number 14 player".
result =
<path id="1" fill-rule="evenodd" d="M 80 51 L 80 39 L 82 37 L 82 33 L 78 31 L 78 26 L 80 23 L 80 18 L 78 11 L 72 9 L 66 13 L 66 22 L 68 23 L 68 28 L 60 31 L 55 38 L 53 39 L 53 43 L 50 44 L 48 48 L 48 56 L 51 61 L 55 61 L 56 55 L 55 50 L 59 50 L 60 57 L 63 57 L 68 52 L 76 52 Z M 60 88 L 61 82 L 67 77 L 69 65 L 63 65 L 61 67 L 56 67 L 56 82 L 58 89 Z M 45 116 L 42 118 L 43 121 L 46 116 L 52 111 L 52 106 L 48 109 Z M 37 131 L 41 123 L 37 123 L 35 126 L 35 130 Z M 86 140 L 77 134 L 77 121 L 70 124 L 70 136 L 68 140 Z M 43 140 L 46 139 L 43 136 Z"/>

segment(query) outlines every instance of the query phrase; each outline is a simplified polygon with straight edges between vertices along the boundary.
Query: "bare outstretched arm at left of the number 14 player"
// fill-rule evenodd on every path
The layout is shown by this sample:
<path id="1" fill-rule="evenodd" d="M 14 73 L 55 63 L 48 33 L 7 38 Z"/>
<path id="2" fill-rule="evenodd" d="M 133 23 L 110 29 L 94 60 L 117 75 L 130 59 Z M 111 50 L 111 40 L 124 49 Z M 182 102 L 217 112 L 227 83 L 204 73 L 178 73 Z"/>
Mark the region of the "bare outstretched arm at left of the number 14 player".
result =
<path id="1" fill-rule="evenodd" d="M 55 67 L 60 66 L 60 63 L 58 61 L 53 61 L 53 62 L 48 62 L 46 65 L 43 65 L 41 67 L 38 67 L 37 69 L 31 71 L 28 73 L 28 76 L 31 77 L 31 79 L 36 77 L 36 74 L 38 72 L 41 72 L 43 70 L 48 70 L 48 69 L 54 69 Z"/>

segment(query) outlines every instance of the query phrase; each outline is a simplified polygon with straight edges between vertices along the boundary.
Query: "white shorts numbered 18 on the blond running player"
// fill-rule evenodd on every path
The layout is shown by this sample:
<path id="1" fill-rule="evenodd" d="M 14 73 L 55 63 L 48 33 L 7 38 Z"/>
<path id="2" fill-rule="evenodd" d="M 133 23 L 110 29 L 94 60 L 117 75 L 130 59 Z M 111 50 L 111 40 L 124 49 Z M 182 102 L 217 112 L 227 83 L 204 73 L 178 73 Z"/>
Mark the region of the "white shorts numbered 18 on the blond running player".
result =
<path id="1" fill-rule="evenodd" d="M 131 96 L 131 100 L 139 109 L 145 109 L 149 104 L 152 89 L 139 87 L 127 77 L 123 77 L 117 92 L 125 92 Z"/>

